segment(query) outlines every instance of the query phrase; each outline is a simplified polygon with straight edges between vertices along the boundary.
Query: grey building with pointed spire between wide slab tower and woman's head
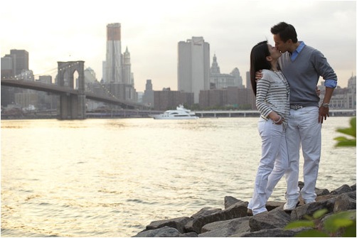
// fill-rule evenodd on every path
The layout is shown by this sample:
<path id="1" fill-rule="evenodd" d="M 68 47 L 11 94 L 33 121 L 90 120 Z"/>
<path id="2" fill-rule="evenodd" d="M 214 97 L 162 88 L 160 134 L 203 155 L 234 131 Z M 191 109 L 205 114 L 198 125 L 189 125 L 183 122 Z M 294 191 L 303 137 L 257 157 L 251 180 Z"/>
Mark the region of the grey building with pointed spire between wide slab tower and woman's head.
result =
<path id="1" fill-rule="evenodd" d="M 223 90 L 227 87 L 243 87 L 242 77 L 237 67 L 230 74 L 220 73 L 217 57 L 213 56 L 213 62 L 210 69 L 210 89 Z"/>

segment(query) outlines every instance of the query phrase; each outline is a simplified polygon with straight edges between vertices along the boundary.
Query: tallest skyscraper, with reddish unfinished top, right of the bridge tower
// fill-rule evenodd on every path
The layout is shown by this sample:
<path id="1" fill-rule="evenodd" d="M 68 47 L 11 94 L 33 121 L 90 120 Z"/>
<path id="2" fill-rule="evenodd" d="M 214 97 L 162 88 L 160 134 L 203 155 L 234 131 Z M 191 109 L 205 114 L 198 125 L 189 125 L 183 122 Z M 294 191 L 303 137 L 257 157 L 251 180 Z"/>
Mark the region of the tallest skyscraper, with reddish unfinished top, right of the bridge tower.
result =
<path id="1" fill-rule="evenodd" d="M 107 54 L 105 60 L 105 83 L 122 82 L 122 41 L 120 23 L 107 25 Z"/>

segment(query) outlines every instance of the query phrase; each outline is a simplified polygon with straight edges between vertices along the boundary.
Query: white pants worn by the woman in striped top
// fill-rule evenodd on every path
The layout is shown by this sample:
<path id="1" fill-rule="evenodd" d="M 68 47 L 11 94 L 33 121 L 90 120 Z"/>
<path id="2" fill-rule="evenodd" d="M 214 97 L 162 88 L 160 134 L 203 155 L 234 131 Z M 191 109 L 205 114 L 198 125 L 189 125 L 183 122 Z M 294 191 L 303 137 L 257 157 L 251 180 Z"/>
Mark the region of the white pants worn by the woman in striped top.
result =
<path id="1" fill-rule="evenodd" d="M 271 119 L 265 121 L 260 118 L 258 131 L 262 138 L 262 157 L 248 205 L 253 215 L 267 211 L 265 204 L 288 166 L 284 126 L 273 124 Z"/>

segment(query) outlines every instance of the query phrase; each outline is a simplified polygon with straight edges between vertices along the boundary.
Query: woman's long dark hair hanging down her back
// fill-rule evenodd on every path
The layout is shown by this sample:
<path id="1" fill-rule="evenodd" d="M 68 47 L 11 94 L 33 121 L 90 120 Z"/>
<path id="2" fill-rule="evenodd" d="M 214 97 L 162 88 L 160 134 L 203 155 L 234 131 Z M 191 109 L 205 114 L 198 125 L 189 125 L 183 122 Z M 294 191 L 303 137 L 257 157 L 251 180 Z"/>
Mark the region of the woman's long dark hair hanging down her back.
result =
<path id="1" fill-rule="evenodd" d="M 257 95 L 257 82 L 255 82 L 255 72 L 259 70 L 270 70 L 272 65 L 267 61 L 267 56 L 270 55 L 267 46 L 267 40 L 257 43 L 250 52 L 250 83 L 252 90 Z"/>

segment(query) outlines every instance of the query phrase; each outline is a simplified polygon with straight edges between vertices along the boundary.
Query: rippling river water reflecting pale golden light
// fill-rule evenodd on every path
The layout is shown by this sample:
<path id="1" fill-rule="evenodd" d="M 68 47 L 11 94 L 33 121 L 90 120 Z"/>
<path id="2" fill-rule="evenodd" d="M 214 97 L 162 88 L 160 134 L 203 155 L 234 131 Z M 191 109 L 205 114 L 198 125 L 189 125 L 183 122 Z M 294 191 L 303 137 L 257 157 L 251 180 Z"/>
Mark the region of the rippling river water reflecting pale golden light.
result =
<path id="1" fill-rule="evenodd" d="M 356 183 L 356 148 L 334 148 L 349 119 L 323 124 L 317 188 Z M 1 121 L 1 236 L 131 237 L 249 200 L 259 159 L 257 118 Z"/>

